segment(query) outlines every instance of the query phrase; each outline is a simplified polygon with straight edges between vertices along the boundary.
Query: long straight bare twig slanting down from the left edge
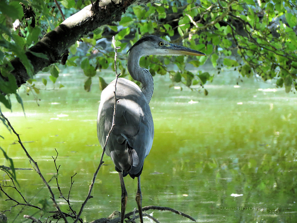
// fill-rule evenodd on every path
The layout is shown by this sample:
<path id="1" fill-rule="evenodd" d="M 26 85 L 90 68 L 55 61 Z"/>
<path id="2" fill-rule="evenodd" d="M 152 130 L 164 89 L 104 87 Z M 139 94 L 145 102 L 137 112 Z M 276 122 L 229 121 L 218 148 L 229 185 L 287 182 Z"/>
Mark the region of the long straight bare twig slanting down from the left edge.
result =
<path id="1" fill-rule="evenodd" d="M 67 221 L 65 215 L 62 213 L 60 207 L 58 206 L 58 204 L 57 204 L 57 202 L 56 202 L 56 200 L 55 200 L 55 198 L 54 198 L 54 194 L 53 194 L 53 192 L 52 192 L 52 190 L 51 190 L 51 188 L 50 188 L 50 186 L 49 186 L 49 183 L 47 182 L 47 180 L 46 180 L 46 179 L 44 178 L 44 176 L 42 175 L 42 173 L 41 173 L 41 171 L 40 171 L 40 169 L 39 169 L 39 167 L 38 167 L 37 162 L 35 162 L 35 161 L 33 160 L 33 158 L 30 156 L 30 154 L 28 153 L 28 151 L 26 150 L 25 146 L 23 145 L 23 143 L 22 143 L 22 141 L 21 141 L 20 135 L 17 134 L 17 133 L 15 132 L 15 130 L 14 130 L 13 127 L 11 126 L 10 122 L 8 121 L 8 119 L 7 119 L 3 114 L 1 114 L 1 116 L 2 116 L 3 119 L 6 120 L 7 125 L 9 126 L 9 128 L 10 128 L 10 129 L 12 130 L 12 132 L 17 136 L 17 138 L 18 138 L 18 142 L 20 143 L 21 147 L 22 147 L 23 150 L 25 151 L 27 157 L 28 157 L 29 160 L 30 160 L 30 163 L 31 163 L 31 162 L 33 163 L 33 168 L 35 169 L 35 171 L 37 172 L 37 174 L 40 176 L 40 178 L 42 179 L 42 181 L 44 182 L 44 184 L 48 187 L 49 193 L 50 193 L 50 195 L 51 195 L 50 198 L 51 198 L 51 200 L 52 200 L 52 202 L 53 202 L 53 204 L 54 204 L 54 207 L 57 209 L 58 213 L 59 213 L 60 216 L 63 218 L 63 220 L 65 221 L 65 223 L 68 223 L 68 221 Z"/>

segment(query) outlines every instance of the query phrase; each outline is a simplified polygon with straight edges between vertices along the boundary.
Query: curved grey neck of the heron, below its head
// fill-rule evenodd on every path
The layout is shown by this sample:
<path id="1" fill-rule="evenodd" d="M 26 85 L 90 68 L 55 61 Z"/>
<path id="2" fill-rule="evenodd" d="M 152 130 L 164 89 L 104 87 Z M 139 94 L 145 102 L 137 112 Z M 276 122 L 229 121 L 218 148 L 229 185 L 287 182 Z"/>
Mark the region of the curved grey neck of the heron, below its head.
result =
<path id="1" fill-rule="evenodd" d="M 133 48 L 128 55 L 127 68 L 131 77 L 141 83 L 141 90 L 149 103 L 153 93 L 153 79 L 147 69 L 143 69 L 139 66 L 139 60 L 142 56 L 143 55 L 137 53 L 136 47 Z"/>

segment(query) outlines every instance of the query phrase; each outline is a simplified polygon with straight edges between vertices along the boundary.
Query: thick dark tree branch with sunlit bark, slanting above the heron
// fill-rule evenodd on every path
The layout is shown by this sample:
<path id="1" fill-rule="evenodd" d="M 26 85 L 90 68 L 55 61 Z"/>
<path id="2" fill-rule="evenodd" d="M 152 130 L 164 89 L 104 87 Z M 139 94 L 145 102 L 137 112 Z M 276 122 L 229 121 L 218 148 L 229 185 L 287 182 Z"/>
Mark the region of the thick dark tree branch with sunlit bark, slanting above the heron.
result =
<path id="1" fill-rule="evenodd" d="M 26 52 L 26 56 L 33 65 L 33 74 L 35 75 L 43 68 L 59 61 L 67 49 L 84 35 L 100 26 L 119 21 L 121 15 L 131 4 L 136 2 L 147 3 L 148 1 L 150 0 L 100 0 L 94 3 L 95 12 L 92 9 L 92 4 L 90 4 L 70 16 Z M 34 55 L 34 52 L 43 53 L 48 59 L 38 57 Z M 11 73 L 16 79 L 17 86 L 20 87 L 31 77 L 20 58 L 15 58 L 10 62 L 14 68 Z M 2 77 L 1 74 L 0 77 Z M 7 80 L 4 77 L 2 78 Z"/>

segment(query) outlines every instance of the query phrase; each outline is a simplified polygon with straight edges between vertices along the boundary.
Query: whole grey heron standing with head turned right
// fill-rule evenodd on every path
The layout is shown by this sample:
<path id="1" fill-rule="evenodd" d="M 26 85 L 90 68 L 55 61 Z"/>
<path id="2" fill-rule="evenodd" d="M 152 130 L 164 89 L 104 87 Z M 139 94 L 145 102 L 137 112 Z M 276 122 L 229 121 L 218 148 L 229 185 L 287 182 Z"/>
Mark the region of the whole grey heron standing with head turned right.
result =
<path id="1" fill-rule="evenodd" d="M 173 45 L 159 37 L 142 37 L 129 50 L 127 68 L 131 77 L 141 83 L 141 89 L 132 81 L 119 78 L 116 85 L 115 126 L 106 145 L 105 154 L 110 156 L 121 184 L 121 223 L 124 222 L 127 204 L 127 191 L 124 178 L 128 174 L 137 178 L 136 202 L 140 222 L 142 216 L 142 194 L 140 175 L 144 161 L 152 146 L 154 128 L 149 108 L 153 92 L 153 79 L 148 69 L 141 68 L 140 58 L 147 55 L 193 55 L 203 56 L 202 52 L 180 45 Z M 97 133 L 100 145 L 104 147 L 106 136 L 112 125 L 114 110 L 114 85 L 112 81 L 101 93 Z"/>

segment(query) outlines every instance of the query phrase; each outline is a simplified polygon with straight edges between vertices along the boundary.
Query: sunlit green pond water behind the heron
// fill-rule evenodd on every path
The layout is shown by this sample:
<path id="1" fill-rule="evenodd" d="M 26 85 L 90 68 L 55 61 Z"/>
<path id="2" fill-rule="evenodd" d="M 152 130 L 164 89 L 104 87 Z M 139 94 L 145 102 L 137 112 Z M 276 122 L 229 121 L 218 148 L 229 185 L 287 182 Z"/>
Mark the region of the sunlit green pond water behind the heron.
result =
<path id="1" fill-rule="evenodd" d="M 150 102 L 155 137 L 142 174 L 143 206 L 171 207 L 198 222 L 296 221 L 297 98 L 294 93 L 287 94 L 284 89 L 253 79 L 244 79 L 237 88 L 234 76 L 237 74 L 226 72 L 206 85 L 208 96 L 186 88 L 169 89 L 168 79 L 155 78 Z M 42 77 L 39 75 L 37 80 Z M 60 81 L 66 87 L 41 91 L 37 95 L 40 106 L 21 90 L 26 117 L 16 102 L 13 113 L 4 112 L 47 180 L 55 174 L 51 156 L 56 156 L 54 149 L 58 151 L 58 179 L 65 196 L 71 176 L 77 173 L 70 194 L 77 212 L 87 196 L 102 151 L 96 133 L 98 81 L 94 79 L 92 91 L 85 92 L 83 80 L 81 72 L 65 71 Z M 15 135 L 3 125 L 0 135 L 5 138 L 0 138 L 0 146 L 13 158 L 15 167 L 32 168 Z M 82 215 L 87 222 L 120 211 L 118 174 L 109 157 L 105 156 L 104 162 L 92 193 L 94 198 Z M 0 164 L 8 166 L 2 154 Z M 1 179 L 8 179 L 3 172 Z M 54 210 L 48 190 L 35 171 L 18 170 L 17 180 L 31 204 L 47 199 L 48 209 Z M 125 178 L 127 212 L 137 207 L 136 183 Z M 67 212 L 65 201 L 58 198 L 54 179 L 50 185 L 61 209 Z M 12 188 L 5 190 L 22 201 Z M 15 204 L 5 199 L 1 193 L 0 210 Z M 8 222 L 18 214 L 16 222 L 29 222 L 22 216 L 35 212 L 16 207 L 5 214 Z M 39 216 L 40 213 L 35 215 Z M 163 223 L 191 222 L 168 212 L 153 211 L 153 217 Z"/>

